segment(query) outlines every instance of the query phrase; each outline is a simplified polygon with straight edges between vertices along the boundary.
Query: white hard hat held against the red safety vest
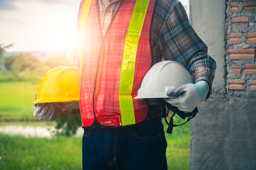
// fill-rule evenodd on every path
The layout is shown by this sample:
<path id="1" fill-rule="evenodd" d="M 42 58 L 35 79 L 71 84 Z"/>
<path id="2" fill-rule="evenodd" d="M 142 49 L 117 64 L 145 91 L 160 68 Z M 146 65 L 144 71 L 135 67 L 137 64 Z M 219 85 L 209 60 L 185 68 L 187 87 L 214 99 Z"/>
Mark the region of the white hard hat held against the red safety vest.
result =
<path id="1" fill-rule="evenodd" d="M 158 62 L 146 73 L 135 99 L 170 98 L 166 96 L 166 91 L 193 82 L 193 77 L 182 64 L 174 61 Z"/>

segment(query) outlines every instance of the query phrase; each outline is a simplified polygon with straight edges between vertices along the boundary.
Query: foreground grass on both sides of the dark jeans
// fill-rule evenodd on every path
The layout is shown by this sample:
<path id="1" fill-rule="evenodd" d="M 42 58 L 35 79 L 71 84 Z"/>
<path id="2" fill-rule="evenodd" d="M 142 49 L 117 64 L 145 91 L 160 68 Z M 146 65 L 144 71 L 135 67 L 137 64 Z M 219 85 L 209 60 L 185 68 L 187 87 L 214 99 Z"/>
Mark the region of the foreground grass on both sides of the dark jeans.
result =
<path id="1" fill-rule="evenodd" d="M 167 136 L 169 169 L 189 169 L 189 138 Z M 82 137 L 21 137 L 0 134 L 0 169 L 82 169 Z"/>

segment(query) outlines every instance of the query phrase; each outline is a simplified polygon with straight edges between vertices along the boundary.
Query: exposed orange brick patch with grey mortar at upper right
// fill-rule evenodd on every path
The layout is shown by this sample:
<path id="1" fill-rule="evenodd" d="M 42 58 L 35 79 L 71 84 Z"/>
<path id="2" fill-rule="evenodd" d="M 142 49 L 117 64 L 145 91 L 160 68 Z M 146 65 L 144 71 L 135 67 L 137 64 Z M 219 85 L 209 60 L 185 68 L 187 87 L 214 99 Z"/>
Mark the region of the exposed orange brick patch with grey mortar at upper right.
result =
<path id="1" fill-rule="evenodd" d="M 256 1 L 226 3 L 226 88 L 232 96 L 256 96 Z"/>

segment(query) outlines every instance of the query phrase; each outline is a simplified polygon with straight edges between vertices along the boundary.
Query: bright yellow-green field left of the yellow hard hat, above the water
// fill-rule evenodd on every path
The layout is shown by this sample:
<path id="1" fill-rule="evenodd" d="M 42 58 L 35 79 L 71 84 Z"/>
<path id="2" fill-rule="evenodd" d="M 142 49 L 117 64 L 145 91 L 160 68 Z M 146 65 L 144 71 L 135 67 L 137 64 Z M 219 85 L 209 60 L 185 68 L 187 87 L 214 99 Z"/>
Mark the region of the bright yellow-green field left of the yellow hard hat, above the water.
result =
<path id="1" fill-rule="evenodd" d="M 0 82 L 0 121 L 37 120 L 31 102 L 38 86 L 29 81 Z"/>

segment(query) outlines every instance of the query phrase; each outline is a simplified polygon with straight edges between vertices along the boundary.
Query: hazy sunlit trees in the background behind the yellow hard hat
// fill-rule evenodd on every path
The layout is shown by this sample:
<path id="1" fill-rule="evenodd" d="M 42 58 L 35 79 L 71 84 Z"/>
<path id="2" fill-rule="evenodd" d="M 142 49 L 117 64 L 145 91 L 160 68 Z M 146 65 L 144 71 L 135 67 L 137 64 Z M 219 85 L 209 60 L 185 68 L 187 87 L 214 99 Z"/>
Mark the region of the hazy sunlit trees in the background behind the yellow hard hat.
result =
<path id="1" fill-rule="evenodd" d="M 46 62 L 41 62 L 33 55 L 21 53 L 4 57 L 3 63 L 5 69 L 0 69 L 1 82 L 41 81 L 50 69 L 59 66 L 71 66 L 68 56 L 64 54 L 53 56 Z"/>

